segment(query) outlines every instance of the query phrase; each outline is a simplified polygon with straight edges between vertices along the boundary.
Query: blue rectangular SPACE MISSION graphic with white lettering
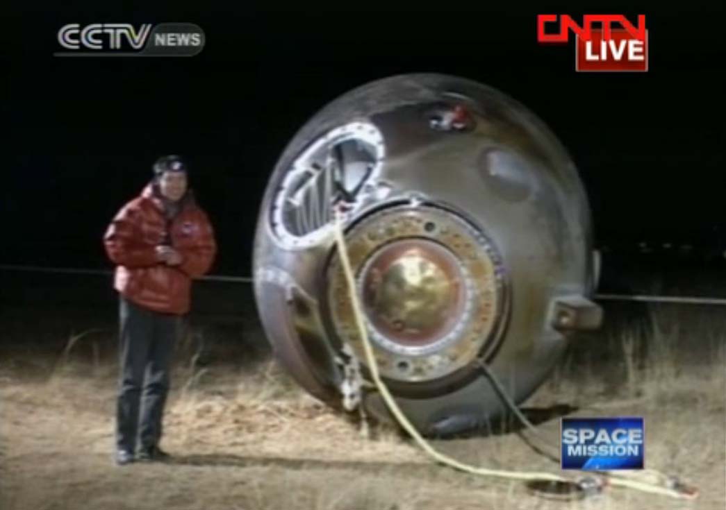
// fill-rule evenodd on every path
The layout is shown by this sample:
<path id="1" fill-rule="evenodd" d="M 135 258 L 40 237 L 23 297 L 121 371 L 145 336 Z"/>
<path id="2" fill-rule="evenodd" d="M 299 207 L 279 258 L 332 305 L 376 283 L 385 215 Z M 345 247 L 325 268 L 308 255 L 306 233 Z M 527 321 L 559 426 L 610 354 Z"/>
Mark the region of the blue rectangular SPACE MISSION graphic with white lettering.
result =
<path id="1" fill-rule="evenodd" d="M 643 418 L 563 418 L 562 469 L 643 469 Z"/>

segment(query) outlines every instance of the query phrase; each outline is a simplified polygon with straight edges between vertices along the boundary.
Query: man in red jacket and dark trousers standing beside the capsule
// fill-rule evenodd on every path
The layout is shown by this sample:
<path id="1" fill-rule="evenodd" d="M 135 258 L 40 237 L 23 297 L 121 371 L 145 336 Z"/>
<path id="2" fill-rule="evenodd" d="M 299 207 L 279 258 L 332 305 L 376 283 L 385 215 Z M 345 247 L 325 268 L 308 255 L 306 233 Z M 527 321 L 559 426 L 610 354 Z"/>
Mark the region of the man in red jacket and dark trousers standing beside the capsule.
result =
<path id="1" fill-rule="evenodd" d="M 212 226 L 188 189 L 180 157 L 155 163 L 153 180 L 113 218 L 104 243 L 117 265 L 120 299 L 115 460 L 163 460 L 168 455 L 159 441 L 181 316 L 189 311 L 192 279 L 206 273 L 216 255 Z"/>

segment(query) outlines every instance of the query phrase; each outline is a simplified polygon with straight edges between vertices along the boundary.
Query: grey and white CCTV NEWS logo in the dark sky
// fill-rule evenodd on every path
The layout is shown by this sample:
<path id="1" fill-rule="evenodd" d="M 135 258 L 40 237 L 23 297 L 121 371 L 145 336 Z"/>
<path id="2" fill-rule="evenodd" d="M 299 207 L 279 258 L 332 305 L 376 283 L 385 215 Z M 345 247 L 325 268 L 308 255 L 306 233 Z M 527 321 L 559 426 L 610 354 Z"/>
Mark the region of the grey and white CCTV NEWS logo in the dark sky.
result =
<path id="1" fill-rule="evenodd" d="M 58 43 L 69 51 L 57 57 L 192 57 L 205 36 L 193 23 L 69 23 L 58 30 Z"/>

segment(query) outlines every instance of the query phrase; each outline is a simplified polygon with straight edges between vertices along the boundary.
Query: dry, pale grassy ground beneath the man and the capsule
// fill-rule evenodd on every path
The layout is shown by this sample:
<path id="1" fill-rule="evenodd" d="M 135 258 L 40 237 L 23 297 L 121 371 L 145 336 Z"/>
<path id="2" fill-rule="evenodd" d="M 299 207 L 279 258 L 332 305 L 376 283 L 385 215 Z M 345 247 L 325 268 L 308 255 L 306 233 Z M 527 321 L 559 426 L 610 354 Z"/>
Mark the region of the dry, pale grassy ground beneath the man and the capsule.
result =
<path id="1" fill-rule="evenodd" d="M 174 461 L 119 468 L 113 323 L 93 314 L 41 323 L 19 309 L 4 310 L 0 326 L 0 509 L 724 509 L 726 319 L 650 311 L 648 320 L 611 315 L 611 327 L 574 342 L 524 407 L 644 416 L 647 467 L 697 485 L 696 502 L 622 489 L 548 501 L 520 482 L 431 464 L 395 431 L 362 437 L 280 371 L 253 318 L 197 322 L 179 345 L 165 420 Z M 559 443 L 558 419 L 538 427 Z M 514 433 L 436 448 L 481 466 L 560 473 Z"/>

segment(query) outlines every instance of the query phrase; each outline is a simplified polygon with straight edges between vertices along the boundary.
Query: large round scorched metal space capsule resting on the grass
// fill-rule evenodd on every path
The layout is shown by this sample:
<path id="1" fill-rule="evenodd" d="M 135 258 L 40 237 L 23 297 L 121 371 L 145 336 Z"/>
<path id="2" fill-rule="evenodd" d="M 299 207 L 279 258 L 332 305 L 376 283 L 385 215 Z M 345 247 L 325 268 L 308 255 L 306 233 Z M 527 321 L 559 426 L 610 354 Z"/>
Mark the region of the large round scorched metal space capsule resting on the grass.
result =
<path id="1" fill-rule="evenodd" d="M 277 359 L 333 406 L 388 412 L 367 382 L 333 215 L 380 374 L 424 435 L 481 427 L 553 369 L 600 307 L 590 210 L 547 126 L 501 92 L 399 75 L 306 123 L 269 179 L 253 271 Z"/>

